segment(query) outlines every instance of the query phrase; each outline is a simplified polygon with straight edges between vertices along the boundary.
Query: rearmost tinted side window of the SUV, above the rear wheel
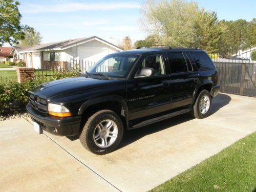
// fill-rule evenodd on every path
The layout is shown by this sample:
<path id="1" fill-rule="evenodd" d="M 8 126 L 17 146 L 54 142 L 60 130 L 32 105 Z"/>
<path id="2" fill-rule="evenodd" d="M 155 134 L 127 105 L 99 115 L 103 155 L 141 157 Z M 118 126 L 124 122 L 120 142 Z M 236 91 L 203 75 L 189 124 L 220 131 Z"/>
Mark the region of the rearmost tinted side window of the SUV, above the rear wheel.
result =
<path id="1" fill-rule="evenodd" d="M 204 70 L 214 69 L 214 66 L 212 66 L 211 60 L 206 55 L 206 53 L 191 52 L 191 56 L 195 60 L 198 70 L 204 71 Z"/>

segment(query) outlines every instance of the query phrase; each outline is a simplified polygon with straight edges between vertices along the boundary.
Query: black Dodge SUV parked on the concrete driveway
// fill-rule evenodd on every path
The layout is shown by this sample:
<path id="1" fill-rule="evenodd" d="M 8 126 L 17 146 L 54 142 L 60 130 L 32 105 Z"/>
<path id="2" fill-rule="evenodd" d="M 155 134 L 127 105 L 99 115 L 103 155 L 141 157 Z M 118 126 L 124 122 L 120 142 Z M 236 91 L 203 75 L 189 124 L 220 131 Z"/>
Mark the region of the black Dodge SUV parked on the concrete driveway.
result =
<path id="1" fill-rule="evenodd" d="M 190 112 L 205 118 L 219 93 L 217 69 L 200 49 L 146 48 L 110 54 L 83 76 L 30 91 L 27 111 L 39 134 L 78 135 L 109 153 L 131 130 Z"/>

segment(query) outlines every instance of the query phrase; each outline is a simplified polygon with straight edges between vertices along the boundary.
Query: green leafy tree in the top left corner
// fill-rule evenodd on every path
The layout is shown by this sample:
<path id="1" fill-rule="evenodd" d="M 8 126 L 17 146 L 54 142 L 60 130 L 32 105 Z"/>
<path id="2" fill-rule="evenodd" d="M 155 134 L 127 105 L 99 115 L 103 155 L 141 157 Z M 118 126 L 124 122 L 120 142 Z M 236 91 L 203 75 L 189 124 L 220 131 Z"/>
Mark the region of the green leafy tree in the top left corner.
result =
<path id="1" fill-rule="evenodd" d="M 0 47 L 4 42 L 12 45 L 25 37 L 24 26 L 20 25 L 22 15 L 18 5 L 14 0 L 0 0 Z"/>

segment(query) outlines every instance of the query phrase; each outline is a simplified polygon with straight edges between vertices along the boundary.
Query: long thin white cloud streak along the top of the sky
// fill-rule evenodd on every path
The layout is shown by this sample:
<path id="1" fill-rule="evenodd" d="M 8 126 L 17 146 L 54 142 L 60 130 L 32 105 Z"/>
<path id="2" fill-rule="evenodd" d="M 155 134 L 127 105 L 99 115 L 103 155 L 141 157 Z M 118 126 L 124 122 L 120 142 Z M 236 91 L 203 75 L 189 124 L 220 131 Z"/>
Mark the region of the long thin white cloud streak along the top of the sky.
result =
<path id="1" fill-rule="evenodd" d="M 23 4 L 20 11 L 24 13 L 66 13 L 77 11 L 108 11 L 116 9 L 139 9 L 140 5 L 135 2 L 99 2 L 99 3 L 62 3 L 62 4 Z"/>

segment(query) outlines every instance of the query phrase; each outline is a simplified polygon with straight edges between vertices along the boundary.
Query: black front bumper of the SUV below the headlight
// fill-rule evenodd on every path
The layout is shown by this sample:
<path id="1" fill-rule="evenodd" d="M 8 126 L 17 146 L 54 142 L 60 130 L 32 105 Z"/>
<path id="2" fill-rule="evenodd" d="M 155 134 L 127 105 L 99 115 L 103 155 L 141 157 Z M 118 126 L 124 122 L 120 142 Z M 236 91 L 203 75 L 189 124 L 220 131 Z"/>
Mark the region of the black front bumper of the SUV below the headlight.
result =
<path id="1" fill-rule="evenodd" d="M 38 123 L 42 130 L 58 136 L 77 135 L 80 129 L 81 116 L 54 117 L 42 114 L 32 108 L 30 103 L 26 106 L 31 119 Z"/>

